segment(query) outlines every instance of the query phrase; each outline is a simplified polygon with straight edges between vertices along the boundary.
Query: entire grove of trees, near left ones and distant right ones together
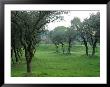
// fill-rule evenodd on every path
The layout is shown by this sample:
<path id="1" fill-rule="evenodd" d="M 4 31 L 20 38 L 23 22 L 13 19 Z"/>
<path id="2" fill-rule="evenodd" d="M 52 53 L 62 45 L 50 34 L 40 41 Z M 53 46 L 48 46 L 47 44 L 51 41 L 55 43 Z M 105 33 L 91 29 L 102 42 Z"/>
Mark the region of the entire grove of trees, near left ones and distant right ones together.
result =
<path id="1" fill-rule="evenodd" d="M 23 54 L 26 59 L 27 73 L 31 73 L 31 61 L 37 52 L 36 46 L 41 41 L 46 24 L 62 20 L 60 14 L 65 11 L 12 11 L 11 12 L 11 60 L 19 62 Z M 58 26 L 49 31 L 49 37 L 58 53 L 61 45 L 62 53 L 71 54 L 73 42 L 79 39 L 85 46 L 89 56 L 89 45 L 92 47 L 91 56 L 95 55 L 97 43 L 100 43 L 100 13 L 91 14 L 89 18 L 80 21 L 78 17 L 71 20 L 70 27 Z M 67 49 L 65 49 L 67 46 Z"/>

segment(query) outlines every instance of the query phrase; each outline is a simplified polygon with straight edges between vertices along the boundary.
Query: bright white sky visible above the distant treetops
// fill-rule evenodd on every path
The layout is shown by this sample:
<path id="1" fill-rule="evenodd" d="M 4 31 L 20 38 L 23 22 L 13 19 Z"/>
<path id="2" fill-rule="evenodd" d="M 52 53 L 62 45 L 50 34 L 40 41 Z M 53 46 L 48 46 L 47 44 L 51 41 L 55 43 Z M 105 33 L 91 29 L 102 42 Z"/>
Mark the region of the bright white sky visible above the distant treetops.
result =
<path id="1" fill-rule="evenodd" d="M 52 22 L 49 23 L 47 26 L 48 30 L 53 30 L 55 27 L 57 26 L 65 26 L 65 27 L 69 27 L 71 25 L 71 20 L 74 17 L 78 17 L 80 18 L 81 21 L 83 21 L 85 18 L 89 17 L 90 14 L 94 13 L 96 14 L 98 11 L 70 11 L 70 13 L 68 14 L 63 14 L 64 16 L 64 20 L 60 21 L 60 22 Z"/>

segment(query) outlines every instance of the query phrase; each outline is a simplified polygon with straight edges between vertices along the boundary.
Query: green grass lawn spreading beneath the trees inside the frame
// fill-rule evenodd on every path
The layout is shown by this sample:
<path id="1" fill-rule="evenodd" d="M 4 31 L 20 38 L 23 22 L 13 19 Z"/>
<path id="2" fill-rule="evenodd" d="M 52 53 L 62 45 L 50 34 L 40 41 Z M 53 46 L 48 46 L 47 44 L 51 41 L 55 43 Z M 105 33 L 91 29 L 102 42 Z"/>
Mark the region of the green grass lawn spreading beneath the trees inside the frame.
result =
<path id="1" fill-rule="evenodd" d="M 100 76 L 99 47 L 95 56 L 86 56 L 81 45 L 72 47 L 71 55 L 55 53 L 54 45 L 41 44 L 32 59 L 32 74 L 26 73 L 25 59 L 11 67 L 12 77 L 98 77 Z"/>

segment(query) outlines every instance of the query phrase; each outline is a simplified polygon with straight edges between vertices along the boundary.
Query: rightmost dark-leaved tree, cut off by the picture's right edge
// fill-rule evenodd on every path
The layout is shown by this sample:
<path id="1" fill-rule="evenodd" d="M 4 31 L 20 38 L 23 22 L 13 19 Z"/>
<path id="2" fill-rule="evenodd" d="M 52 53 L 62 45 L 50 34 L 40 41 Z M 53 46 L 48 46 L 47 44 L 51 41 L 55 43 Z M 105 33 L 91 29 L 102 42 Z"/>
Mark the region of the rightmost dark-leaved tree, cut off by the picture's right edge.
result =
<path id="1" fill-rule="evenodd" d="M 95 55 L 95 48 L 100 40 L 100 13 L 91 14 L 88 19 L 84 20 L 88 42 L 92 47 L 92 56 Z"/>

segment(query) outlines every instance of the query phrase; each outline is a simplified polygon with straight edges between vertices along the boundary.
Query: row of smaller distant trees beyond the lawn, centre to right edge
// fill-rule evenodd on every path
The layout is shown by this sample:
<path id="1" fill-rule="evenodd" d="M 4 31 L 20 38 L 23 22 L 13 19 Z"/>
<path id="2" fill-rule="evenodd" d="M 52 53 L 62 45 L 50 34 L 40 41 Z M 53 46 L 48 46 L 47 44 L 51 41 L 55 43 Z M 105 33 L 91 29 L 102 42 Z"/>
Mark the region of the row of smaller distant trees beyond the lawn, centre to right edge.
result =
<path id="1" fill-rule="evenodd" d="M 92 47 L 91 56 L 95 55 L 97 43 L 100 42 L 100 13 L 91 14 L 89 18 L 85 18 L 83 22 L 78 17 L 71 20 L 70 27 L 58 26 L 50 31 L 50 38 L 56 47 L 62 46 L 64 54 L 65 43 L 68 44 L 67 52 L 71 54 L 72 43 L 79 40 L 85 46 L 85 52 L 88 56 L 88 45 Z"/>

